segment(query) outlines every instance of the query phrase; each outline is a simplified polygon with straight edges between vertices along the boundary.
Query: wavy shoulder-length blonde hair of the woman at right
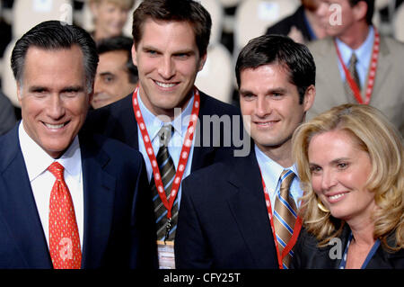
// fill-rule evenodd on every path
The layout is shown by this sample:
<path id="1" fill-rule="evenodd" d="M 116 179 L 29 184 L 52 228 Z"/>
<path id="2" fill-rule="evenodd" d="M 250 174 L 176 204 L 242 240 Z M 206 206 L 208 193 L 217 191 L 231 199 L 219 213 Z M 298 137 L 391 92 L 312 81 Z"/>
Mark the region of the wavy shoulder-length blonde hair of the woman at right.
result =
<path id="1" fill-rule="evenodd" d="M 398 130 L 379 110 L 368 106 L 347 103 L 323 112 L 294 131 L 293 154 L 300 176 L 303 198 L 301 216 L 304 227 L 319 240 L 320 247 L 328 245 L 331 238 L 339 236 L 344 222 L 333 218 L 318 207 L 316 193 L 312 190 L 308 148 L 312 137 L 330 130 L 347 131 L 359 148 L 369 154 L 372 171 L 366 183 L 378 209 L 373 211 L 374 238 L 391 251 L 404 248 L 404 151 Z M 395 232 L 396 245 L 387 243 Z"/>

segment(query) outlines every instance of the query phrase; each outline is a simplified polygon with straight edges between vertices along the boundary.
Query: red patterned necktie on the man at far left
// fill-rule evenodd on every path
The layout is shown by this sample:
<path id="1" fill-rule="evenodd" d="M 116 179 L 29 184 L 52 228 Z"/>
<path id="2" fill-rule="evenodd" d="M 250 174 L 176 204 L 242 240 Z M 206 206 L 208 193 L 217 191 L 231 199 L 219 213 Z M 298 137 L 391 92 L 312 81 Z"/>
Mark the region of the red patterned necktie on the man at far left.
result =
<path id="1" fill-rule="evenodd" d="M 80 238 L 64 170 L 57 162 L 48 167 L 48 171 L 57 178 L 49 201 L 49 253 L 55 269 L 80 269 Z"/>

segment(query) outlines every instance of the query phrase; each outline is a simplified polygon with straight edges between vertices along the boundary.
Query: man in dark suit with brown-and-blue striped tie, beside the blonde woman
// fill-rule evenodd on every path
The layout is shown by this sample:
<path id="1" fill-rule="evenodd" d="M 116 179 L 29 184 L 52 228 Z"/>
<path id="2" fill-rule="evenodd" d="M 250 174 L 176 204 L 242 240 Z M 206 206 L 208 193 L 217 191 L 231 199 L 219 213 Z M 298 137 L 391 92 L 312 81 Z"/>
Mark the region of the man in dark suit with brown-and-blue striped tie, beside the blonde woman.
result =
<path id="1" fill-rule="evenodd" d="M 293 256 L 302 190 L 291 138 L 314 101 L 314 61 L 302 44 L 265 35 L 242 49 L 235 70 L 254 148 L 183 182 L 178 268 L 287 268 Z"/>

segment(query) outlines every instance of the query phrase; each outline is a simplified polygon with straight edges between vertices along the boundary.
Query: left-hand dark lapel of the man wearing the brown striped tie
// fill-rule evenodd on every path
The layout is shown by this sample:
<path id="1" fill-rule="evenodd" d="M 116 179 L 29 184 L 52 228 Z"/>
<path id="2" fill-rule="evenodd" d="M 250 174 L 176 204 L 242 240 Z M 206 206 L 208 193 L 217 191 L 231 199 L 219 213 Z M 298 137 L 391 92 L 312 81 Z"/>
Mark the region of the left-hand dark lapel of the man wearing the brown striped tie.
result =
<path id="1" fill-rule="evenodd" d="M 229 177 L 236 187 L 228 200 L 234 219 L 257 267 L 277 266 L 277 251 L 272 236 L 259 166 L 251 149 L 248 157 L 234 157 L 237 163 Z"/>

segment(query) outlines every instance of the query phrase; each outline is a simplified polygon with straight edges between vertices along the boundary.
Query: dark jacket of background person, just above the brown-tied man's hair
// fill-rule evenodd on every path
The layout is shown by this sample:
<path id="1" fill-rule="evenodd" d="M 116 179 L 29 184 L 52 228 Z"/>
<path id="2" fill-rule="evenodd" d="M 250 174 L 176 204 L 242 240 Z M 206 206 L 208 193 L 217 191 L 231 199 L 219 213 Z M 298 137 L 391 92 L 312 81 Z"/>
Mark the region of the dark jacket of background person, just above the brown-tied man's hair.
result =
<path id="1" fill-rule="evenodd" d="M 285 17 L 285 19 L 282 19 L 281 21 L 269 27 L 266 33 L 287 36 L 293 26 L 302 32 L 303 39 L 305 41 L 314 40 L 312 39 L 312 34 L 310 33 L 310 28 L 308 26 L 306 16 L 304 15 L 303 5 L 300 5 L 299 8 L 292 15 Z"/>

